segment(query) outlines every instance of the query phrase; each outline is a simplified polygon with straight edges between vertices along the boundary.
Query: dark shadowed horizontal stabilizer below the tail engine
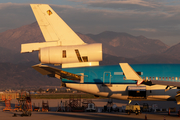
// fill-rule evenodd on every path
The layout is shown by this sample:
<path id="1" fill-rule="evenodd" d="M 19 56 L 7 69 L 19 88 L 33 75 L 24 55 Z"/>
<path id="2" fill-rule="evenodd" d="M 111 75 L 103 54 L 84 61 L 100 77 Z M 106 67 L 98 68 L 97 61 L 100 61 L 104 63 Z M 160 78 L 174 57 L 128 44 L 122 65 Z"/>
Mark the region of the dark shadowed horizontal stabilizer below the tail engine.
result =
<path id="1" fill-rule="evenodd" d="M 60 79 L 60 78 L 65 78 L 68 80 L 80 80 L 81 79 L 80 75 L 69 73 L 69 72 L 63 71 L 61 69 L 50 67 L 48 65 L 37 64 L 37 65 L 32 66 L 32 68 L 37 70 L 42 75 L 48 75 L 50 77 L 56 77 L 58 79 Z"/>

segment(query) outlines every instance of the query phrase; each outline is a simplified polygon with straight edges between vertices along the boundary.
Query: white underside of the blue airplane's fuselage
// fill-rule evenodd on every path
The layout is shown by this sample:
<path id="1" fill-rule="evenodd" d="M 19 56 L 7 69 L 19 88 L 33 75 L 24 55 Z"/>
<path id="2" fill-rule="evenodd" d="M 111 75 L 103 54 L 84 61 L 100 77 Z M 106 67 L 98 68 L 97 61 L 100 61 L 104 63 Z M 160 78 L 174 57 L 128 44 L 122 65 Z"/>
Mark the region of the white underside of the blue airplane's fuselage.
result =
<path id="1" fill-rule="evenodd" d="M 175 95 L 178 89 L 171 89 L 165 92 L 164 85 L 145 86 L 145 97 L 130 97 L 129 86 L 136 86 L 136 84 L 82 84 L 82 83 L 65 83 L 66 87 L 80 90 L 86 93 L 97 96 L 104 96 L 109 98 L 121 100 L 175 100 Z M 138 91 L 138 90 L 137 90 Z"/>

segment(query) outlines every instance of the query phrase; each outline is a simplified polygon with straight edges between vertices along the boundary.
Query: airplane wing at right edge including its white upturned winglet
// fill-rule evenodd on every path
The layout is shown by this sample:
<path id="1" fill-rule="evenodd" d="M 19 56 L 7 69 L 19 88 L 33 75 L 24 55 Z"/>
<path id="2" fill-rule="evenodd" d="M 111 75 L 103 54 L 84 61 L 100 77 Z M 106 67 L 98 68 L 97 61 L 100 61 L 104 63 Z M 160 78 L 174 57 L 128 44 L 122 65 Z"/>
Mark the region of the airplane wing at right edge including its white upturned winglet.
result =
<path id="1" fill-rule="evenodd" d="M 144 80 L 134 71 L 134 69 L 128 63 L 119 63 L 127 80 L 137 80 L 137 85 L 140 85 Z M 180 82 L 176 81 L 160 81 L 160 80 L 148 80 L 151 84 L 167 85 L 180 87 Z M 146 81 L 144 81 L 146 83 Z"/>

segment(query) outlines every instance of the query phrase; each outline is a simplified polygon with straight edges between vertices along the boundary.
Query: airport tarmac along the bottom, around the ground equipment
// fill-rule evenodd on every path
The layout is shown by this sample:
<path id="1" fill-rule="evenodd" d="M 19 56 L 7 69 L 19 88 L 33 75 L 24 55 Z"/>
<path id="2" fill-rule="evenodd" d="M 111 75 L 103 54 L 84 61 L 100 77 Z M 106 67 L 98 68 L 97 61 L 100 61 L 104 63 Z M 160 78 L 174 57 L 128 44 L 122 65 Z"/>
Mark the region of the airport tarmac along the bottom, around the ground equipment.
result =
<path id="1" fill-rule="evenodd" d="M 112 112 L 112 113 L 101 113 L 101 112 L 56 112 L 57 104 L 61 101 L 61 99 L 43 99 L 45 102 L 48 100 L 51 111 L 49 112 L 32 112 L 31 117 L 21 117 L 21 112 L 2 112 L 4 108 L 4 102 L 0 103 L 0 120 L 109 120 L 109 119 L 120 119 L 120 120 L 144 120 L 145 116 L 147 116 L 148 120 L 179 120 L 177 112 L 171 113 L 169 116 L 167 112 L 146 112 L 140 115 L 135 115 L 132 113 L 131 115 L 127 115 L 124 112 Z M 65 101 L 65 100 L 63 100 Z M 108 99 L 93 99 L 93 102 L 100 109 L 104 105 L 106 105 Z M 11 101 L 11 106 L 14 108 L 16 100 Z M 113 100 L 114 104 L 118 107 L 122 105 L 126 105 L 128 101 L 122 100 Z M 148 103 L 149 105 L 158 104 L 159 108 L 168 108 L 168 107 L 176 107 L 176 110 L 179 109 L 179 105 L 176 105 L 173 101 L 132 101 L 133 103 Z M 42 99 L 32 99 L 32 104 L 36 105 L 39 103 L 40 107 L 42 104 Z M 17 114 L 17 117 L 12 117 L 14 113 Z"/>

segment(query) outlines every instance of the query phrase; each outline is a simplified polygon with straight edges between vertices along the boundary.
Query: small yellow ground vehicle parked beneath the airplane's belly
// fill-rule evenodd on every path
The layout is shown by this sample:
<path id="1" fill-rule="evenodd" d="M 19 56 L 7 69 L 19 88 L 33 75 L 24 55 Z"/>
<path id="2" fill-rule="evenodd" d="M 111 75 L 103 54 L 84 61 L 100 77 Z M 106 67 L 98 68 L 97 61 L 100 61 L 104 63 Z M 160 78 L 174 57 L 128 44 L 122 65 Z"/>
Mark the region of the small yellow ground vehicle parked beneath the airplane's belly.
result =
<path id="1" fill-rule="evenodd" d="M 141 113 L 140 105 L 126 105 L 125 112 L 129 115 L 134 112 L 136 115 Z"/>

